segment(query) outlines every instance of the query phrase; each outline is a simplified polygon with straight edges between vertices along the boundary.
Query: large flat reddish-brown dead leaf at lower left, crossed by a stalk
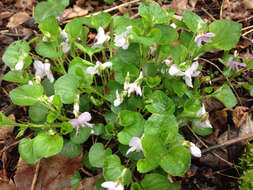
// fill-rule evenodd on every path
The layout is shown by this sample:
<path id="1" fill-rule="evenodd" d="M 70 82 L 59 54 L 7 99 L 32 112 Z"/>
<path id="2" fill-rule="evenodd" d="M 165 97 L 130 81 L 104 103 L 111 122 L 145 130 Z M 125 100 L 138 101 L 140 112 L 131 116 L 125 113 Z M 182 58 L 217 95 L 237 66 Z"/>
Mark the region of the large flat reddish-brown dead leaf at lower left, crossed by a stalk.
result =
<path id="1" fill-rule="evenodd" d="M 35 190 L 71 190 L 70 178 L 75 170 L 81 168 L 81 158 L 81 155 L 77 158 L 56 155 L 42 159 Z M 19 159 L 14 177 L 18 190 L 31 188 L 35 168 L 35 164 L 27 164 L 21 158 Z"/>

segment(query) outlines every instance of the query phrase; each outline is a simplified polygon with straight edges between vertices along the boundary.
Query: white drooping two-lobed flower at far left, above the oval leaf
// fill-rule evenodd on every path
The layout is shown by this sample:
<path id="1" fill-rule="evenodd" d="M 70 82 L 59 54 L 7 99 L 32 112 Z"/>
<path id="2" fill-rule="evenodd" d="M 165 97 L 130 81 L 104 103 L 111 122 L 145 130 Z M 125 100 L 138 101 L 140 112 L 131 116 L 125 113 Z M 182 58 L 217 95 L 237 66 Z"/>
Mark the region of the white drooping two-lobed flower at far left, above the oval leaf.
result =
<path id="1" fill-rule="evenodd" d="M 42 79 L 45 76 L 47 76 L 48 80 L 53 83 L 54 82 L 54 76 L 50 70 L 50 64 L 49 63 L 42 63 L 39 60 L 35 60 L 34 63 L 35 68 L 35 76 Z"/>

